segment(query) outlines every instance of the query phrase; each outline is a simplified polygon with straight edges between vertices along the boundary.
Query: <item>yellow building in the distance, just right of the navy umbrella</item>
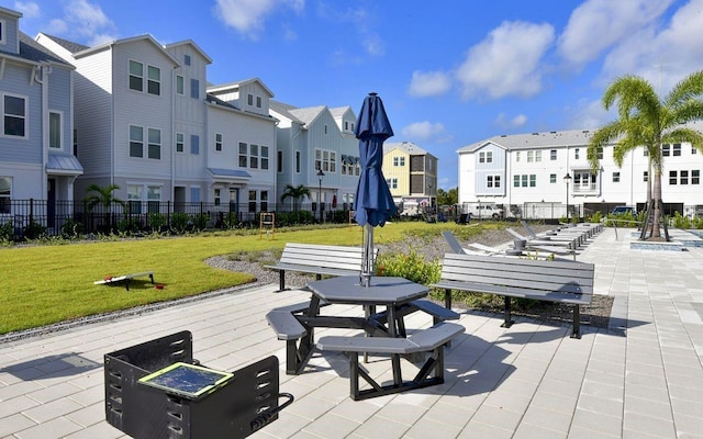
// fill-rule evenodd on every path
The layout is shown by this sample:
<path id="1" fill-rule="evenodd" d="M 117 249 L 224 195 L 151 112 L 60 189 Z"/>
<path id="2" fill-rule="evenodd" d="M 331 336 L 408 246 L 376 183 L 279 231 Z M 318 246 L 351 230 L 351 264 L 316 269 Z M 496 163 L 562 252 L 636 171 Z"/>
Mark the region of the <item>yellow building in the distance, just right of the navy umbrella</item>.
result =
<path id="1" fill-rule="evenodd" d="M 437 200 L 437 158 L 411 142 L 383 144 L 383 176 L 401 215 L 414 215 Z"/>

